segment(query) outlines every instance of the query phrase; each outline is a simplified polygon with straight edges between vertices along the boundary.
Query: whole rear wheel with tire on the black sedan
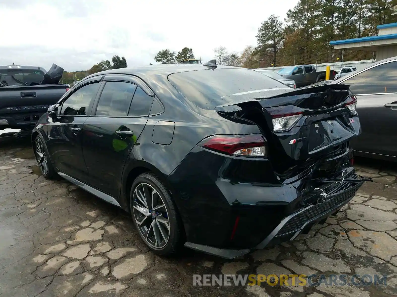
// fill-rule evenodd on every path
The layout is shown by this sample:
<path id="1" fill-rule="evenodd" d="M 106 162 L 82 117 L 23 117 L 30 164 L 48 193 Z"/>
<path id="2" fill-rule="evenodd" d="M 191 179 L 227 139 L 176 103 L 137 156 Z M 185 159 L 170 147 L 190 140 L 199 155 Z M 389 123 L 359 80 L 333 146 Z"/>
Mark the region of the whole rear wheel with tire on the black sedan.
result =
<path id="1" fill-rule="evenodd" d="M 181 221 L 165 185 L 152 173 L 139 175 L 130 192 L 131 215 L 146 246 L 173 255 L 181 246 Z"/>

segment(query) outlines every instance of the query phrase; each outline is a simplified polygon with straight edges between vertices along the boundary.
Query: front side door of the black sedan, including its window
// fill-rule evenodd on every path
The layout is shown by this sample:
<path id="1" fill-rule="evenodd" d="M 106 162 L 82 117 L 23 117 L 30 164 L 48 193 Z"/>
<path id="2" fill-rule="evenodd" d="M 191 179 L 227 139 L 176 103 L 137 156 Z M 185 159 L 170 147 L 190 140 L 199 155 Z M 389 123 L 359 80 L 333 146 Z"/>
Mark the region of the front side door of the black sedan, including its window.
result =
<path id="1" fill-rule="evenodd" d="M 48 150 L 58 171 L 87 182 L 82 151 L 83 124 L 98 93 L 100 78 L 89 79 L 67 95 L 58 107 L 58 118 L 48 129 Z"/>

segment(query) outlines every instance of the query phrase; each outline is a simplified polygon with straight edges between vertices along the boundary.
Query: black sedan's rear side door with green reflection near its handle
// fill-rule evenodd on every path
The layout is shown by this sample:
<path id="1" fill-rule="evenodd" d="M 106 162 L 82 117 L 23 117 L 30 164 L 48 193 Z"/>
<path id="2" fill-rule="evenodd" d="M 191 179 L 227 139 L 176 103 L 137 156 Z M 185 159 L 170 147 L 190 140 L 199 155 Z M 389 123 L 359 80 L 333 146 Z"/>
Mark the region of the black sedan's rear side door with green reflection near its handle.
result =
<path id="1" fill-rule="evenodd" d="M 83 155 L 90 185 L 118 198 L 125 161 L 145 128 L 154 94 L 132 76 L 106 75 L 104 82 L 83 126 Z"/>

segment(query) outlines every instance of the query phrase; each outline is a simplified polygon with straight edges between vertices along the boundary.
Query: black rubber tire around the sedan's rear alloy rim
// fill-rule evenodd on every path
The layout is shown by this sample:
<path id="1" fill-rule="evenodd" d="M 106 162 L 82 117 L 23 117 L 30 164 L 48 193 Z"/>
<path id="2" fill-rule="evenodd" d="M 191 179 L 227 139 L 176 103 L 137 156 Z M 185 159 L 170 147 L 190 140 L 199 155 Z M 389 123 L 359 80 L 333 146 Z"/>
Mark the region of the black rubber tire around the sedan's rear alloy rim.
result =
<path id="1" fill-rule="evenodd" d="M 138 207 L 139 207 L 139 204 L 143 205 L 139 200 L 134 198 L 134 192 L 135 192 L 135 189 L 139 190 L 139 187 L 143 187 L 143 186 L 146 187 L 146 185 L 150 185 L 152 188 L 154 188 L 154 190 L 156 190 L 158 192 L 158 194 L 166 208 L 166 213 L 167 213 L 168 221 L 169 221 L 169 232 L 168 232 L 169 236 L 168 236 L 168 241 L 164 240 L 164 242 L 166 242 L 166 243 L 162 247 L 155 247 L 148 240 L 146 240 L 145 235 L 143 234 L 144 231 L 142 230 L 142 228 L 144 228 L 144 227 L 140 227 L 138 225 L 136 215 L 141 215 L 141 218 L 144 218 L 144 219 L 142 219 L 142 221 L 144 221 L 146 219 L 146 220 L 148 220 L 148 223 L 155 224 L 154 220 L 161 218 L 162 215 L 164 215 L 164 213 L 160 214 L 156 218 L 153 218 L 153 215 L 149 215 L 148 217 L 146 217 L 145 215 L 143 215 L 141 213 L 141 211 L 137 211 L 137 209 L 133 207 L 134 203 Z M 150 187 L 148 187 L 148 188 L 150 188 Z M 135 197 L 136 197 L 136 195 L 135 195 Z M 153 194 L 152 194 L 152 197 L 154 197 Z M 139 203 L 139 204 L 137 205 L 137 203 Z M 153 204 L 154 203 L 152 203 L 152 205 Z M 129 206 L 130 206 L 130 213 L 131 213 L 132 219 L 134 221 L 135 227 L 137 228 L 137 231 L 138 231 L 139 235 L 141 236 L 143 242 L 146 244 L 146 246 L 150 250 L 152 250 L 154 253 L 156 253 L 158 255 L 164 255 L 164 256 L 171 256 L 171 255 L 174 255 L 177 251 L 179 251 L 179 249 L 181 248 L 182 243 L 183 243 L 183 228 L 182 228 L 181 219 L 177 212 L 175 203 L 173 202 L 173 199 L 170 195 L 170 192 L 168 191 L 166 186 L 160 181 L 160 179 L 158 179 L 158 177 L 156 177 L 156 175 L 154 175 L 153 173 L 142 173 L 135 179 L 135 181 L 133 182 L 132 187 L 131 187 Z M 145 205 L 143 205 L 143 206 L 145 207 Z M 149 209 L 150 205 L 147 205 L 147 206 Z M 163 217 L 163 219 L 164 219 L 164 217 Z M 159 224 L 157 223 L 157 225 L 159 225 Z M 164 226 L 164 225 L 162 225 L 162 226 Z M 160 226 L 158 226 L 158 227 L 160 228 Z M 151 238 L 155 237 L 154 229 L 152 229 L 152 230 L 153 230 L 152 231 L 153 236 L 151 236 Z M 165 229 L 163 229 L 163 230 L 165 230 Z M 150 228 L 148 228 L 148 233 L 149 233 L 149 231 L 150 231 Z M 148 234 L 148 233 L 146 233 L 146 234 Z M 162 238 L 164 238 L 163 232 L 161 233 L 160 236 L 162 236 Z M 149 240 L 150 240 L 150 238 L 149 238 Z M 156 243 L 157 243 L 157 239 L 156 239 Z"/>

